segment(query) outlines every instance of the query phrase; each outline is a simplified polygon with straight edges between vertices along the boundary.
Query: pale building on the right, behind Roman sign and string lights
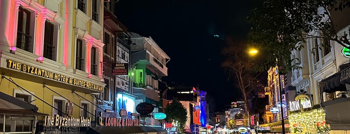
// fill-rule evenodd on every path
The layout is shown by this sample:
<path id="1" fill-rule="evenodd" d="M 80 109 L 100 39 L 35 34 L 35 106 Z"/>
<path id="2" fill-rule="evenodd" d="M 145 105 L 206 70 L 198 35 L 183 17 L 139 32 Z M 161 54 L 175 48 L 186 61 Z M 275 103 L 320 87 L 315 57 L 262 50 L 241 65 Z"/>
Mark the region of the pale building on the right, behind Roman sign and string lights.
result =
<path id="1" fill-rule="evenodd" d="M 345 17 L 348 13 L 348 8 L 342 11 L 330 10 L 332 15 L 330 17 L 334 24 L 333 30 L 338 36 L 348 32 L 350 20 Z M 329 16 L 323 18 L 323 20 L 328 19 Z M 321 37 L 323 36 L 321 31 L 315 30 L 309 34 L 320 37 L 307 38 L 303 44 L 305 47 L 291 51 L 291 57 L 299 59 L 299 62 L 294 61 L 292 64 L 299 63 L 299 66 L 304 66 L 293 71 L 292 85 L 296 86 L 297 91 L 303 90 L 312 95 L 310 99 L 313 109 L 304 112 L 317 111 L 314 123 L 307 127 L 316 128 L 319 125 L 317 122 L 324 121 L 323 124 L 330 127 L 329 133 L 346 133 L 348 122 L 350 122 L 348 114 L 350 108 L 347 106 L 350 103 L 349 50 L 336 41 Z M 321 107 L 318 108 L 319 106 Z M 323 111 L 324 113 L 321 113 Z M 304 112 L 300 111 L 295 114 L 299 115 Z M 306 116 L 300 117 L 306 118 Z M 298 120 L 300 118 L 294 118 L 293 121 Z M 303 132 L 316 130 L 307 127 L 305 125 L 301 127 Z"/>

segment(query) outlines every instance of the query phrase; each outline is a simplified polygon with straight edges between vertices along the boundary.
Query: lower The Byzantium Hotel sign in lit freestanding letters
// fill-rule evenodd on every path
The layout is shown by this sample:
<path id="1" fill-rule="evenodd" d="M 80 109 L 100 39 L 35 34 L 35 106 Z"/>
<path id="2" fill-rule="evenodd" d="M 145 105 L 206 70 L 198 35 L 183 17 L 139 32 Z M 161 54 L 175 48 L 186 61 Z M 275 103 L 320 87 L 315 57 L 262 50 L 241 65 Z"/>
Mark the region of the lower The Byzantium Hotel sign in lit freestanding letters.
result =
<path id="1" fill-rule="evenodd" d="M 74 118 L 74 117 L 63 117 L 58 114 L 56 116 L 45 116 L 44 126 L 90 126 L 91 117 L 85 118 Z"/>

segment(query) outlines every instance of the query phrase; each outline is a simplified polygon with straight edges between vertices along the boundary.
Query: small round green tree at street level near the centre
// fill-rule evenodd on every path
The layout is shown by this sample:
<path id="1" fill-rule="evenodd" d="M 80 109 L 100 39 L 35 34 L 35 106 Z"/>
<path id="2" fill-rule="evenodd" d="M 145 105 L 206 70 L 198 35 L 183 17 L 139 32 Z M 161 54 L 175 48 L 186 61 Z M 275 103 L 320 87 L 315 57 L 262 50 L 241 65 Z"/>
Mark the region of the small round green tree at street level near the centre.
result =
<path id="1" fill-rule="evenodd" d="M 184 131 L 187 121 L 187 110 L 177 98 L 174 98 L 170 104 L 167 104 L 164 113 L 167 115 L 166 120 L 168 122 L 176 123 L 179 131 Z"/>

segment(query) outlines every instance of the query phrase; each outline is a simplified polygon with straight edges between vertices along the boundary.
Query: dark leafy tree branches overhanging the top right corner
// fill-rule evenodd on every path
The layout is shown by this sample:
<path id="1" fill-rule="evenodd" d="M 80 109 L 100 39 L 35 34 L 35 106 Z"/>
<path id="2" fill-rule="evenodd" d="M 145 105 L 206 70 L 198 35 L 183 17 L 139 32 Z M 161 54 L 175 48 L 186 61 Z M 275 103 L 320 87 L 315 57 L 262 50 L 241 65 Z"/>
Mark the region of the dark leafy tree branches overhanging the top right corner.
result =
<path id="1" fill-rule="evenodd" d="M 347 17 L 341 16 L 350 11 L 349 5 L 348 0 L 263 0 L 248 17 L 252 24 L 250 43 L 259 47 L 266 59 L 260 69 L 275 66 L 276 58 L 286 60 L 279 61 L 286 69 L 297 68 L 298 64 L 290 65 L 290 50 L 304 47 L 307 38 L 329 39 L 349 47 L 350 29 L 337 34 L 349 24 L 343 20 Z M 341 19 L 334 19 L 330 14 Z M 321 45 L 313 50 L 321 49 Z"/>

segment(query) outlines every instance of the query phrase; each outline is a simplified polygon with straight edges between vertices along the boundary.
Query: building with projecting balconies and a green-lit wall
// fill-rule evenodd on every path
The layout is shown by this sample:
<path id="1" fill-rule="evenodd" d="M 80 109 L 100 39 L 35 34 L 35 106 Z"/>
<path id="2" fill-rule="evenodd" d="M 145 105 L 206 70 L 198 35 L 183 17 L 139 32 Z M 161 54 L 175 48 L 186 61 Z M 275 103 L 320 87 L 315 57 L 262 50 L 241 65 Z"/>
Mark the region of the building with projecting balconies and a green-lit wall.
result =
<path id="1" fill-rule="evenodd" d="M 135 104 L 149 102 L 154 105 L 154 112 L 159 112 L 160 89 L 163 76 L 168 75 L 166 63 L 170 57 L 152 39 L 129 32 L 133 44 L 131 47 L 130 71 L 132 93 L 136 96 Z M 154 118 L 147 118 L 146 123 L 158 124 Z"/>

